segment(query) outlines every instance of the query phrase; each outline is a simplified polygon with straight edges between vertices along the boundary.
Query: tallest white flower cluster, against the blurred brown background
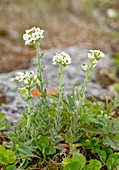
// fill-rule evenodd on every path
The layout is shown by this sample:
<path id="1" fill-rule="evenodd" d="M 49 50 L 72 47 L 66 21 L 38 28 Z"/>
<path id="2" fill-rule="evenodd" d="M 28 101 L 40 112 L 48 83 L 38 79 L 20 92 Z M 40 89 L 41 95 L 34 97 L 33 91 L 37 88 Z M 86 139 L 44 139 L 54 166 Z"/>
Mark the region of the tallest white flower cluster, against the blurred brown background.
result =
<path id="1" fill-rule="evenodd" d="M 26 33 L 23 34 L 23 39 L 26 45 L 34 45 L 44 37 L 44 30 L 41 30 L 39 27 L 33 27 L 29 30 L 26 30 Z"/>

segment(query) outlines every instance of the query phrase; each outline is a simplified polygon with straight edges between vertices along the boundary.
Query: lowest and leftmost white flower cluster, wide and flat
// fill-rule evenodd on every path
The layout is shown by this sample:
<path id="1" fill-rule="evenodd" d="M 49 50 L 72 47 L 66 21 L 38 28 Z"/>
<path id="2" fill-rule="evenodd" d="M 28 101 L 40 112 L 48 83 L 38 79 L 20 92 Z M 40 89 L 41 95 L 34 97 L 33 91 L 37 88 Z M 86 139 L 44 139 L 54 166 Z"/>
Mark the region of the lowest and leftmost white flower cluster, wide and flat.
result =
<path id="1" fill-rule="evenodd" d="M 33 72 L 18 72 L 17 76 L 12 79 L 14 82 L 23 82 L 25 85 L 31 85 L 33 82 L 37 82 L 37 75 Z"/>

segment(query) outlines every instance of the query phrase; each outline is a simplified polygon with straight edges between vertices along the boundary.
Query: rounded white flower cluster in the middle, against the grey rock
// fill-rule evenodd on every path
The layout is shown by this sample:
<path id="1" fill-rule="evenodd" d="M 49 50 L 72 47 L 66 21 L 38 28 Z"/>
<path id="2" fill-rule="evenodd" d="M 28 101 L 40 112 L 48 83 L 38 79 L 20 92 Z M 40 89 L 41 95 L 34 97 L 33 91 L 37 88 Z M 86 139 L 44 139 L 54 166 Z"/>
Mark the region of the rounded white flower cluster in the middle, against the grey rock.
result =
<path id="1" fill-rule="evenodd" d="M 62 64 L 63 66 L 66 66 L 68 64 L 71 64 L 71 57 L 68 53 L 62 52 L 60 54 L 56 53 L 56 55 L 52 59 L 53 64 Z"/>

